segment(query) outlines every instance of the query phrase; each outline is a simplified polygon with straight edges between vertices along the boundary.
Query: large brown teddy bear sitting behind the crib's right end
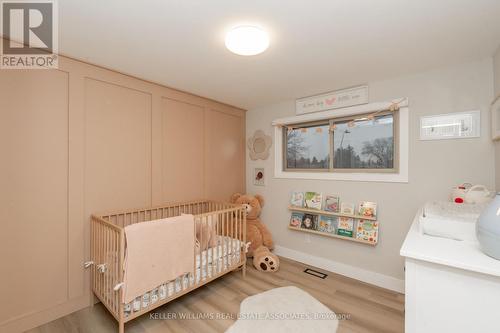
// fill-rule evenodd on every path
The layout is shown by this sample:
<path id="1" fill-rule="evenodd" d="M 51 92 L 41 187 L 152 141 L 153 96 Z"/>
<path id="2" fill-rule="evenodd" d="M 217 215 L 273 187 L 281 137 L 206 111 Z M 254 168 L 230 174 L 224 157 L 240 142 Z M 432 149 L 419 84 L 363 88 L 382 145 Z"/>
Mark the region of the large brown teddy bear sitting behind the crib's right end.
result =
<path id="1" fill-rule="evenodd" d="M 273 237 L 259 218 L 262 206 L 264 206 L 264 198 L 258 194 L 252 196 L 235 193 L 231 197 L 231 202 L 245 206 L 247 212 L 247 242 L 250 242 L 247 257 L 253 257 L 254 251 L 261 245 L 272 250 L 274 248 Z"/>

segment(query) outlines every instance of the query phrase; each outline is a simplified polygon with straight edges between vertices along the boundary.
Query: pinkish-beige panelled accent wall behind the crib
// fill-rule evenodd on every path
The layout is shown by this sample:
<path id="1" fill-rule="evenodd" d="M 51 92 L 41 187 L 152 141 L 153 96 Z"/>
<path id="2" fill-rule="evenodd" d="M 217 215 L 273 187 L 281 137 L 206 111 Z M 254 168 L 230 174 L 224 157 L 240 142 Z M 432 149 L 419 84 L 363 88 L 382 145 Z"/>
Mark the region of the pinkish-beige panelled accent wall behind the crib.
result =
<path id="1" fill-rule="evenodd" d="M 78 61 L 0 70 L 0 332 L 89 304 L 92 213 L 245 190 L 245 112 Z"/>

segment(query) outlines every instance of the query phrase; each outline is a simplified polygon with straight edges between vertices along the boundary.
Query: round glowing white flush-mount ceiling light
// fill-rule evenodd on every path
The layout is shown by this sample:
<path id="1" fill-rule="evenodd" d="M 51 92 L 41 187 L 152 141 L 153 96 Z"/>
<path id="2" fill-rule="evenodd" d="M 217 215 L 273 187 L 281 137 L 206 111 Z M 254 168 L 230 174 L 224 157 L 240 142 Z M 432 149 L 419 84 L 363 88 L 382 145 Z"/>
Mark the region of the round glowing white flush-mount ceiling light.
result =
<path id="1" fill-rule="evenodd" d="M 229 51 L 252 56 L 264 52 L 269 46 L 269 36 L 264 30 L 252 25 L 240 25 L 226 34 L 226 47 Z"/>

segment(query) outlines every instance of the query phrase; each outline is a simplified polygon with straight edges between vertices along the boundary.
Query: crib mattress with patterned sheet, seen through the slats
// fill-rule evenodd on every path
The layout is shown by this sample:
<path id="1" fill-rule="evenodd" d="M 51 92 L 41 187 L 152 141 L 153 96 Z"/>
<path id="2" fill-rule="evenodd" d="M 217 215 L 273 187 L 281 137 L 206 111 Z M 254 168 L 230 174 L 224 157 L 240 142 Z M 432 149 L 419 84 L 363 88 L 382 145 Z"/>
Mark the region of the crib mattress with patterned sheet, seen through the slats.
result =
<path id="1" fill-rule="evenodd" d="M 125 304 L 123 310 L 125 316 L 127 317 L 133 312 L 147 308 L 150 304 L 162 301 L 195 283 L 199 283 L 200 280 L 206 280 L 207 276 L 211 278 L 213 274 L 218 274 L 240 261 L 241 242 L 238 239 L 221 237 L 218 243 L 219 245 L 196 255 L 196 271 L 194 274 L 183 274 L 175 280 L 163 283 L 144 295 L 136 297 L 132 302 Z"/>

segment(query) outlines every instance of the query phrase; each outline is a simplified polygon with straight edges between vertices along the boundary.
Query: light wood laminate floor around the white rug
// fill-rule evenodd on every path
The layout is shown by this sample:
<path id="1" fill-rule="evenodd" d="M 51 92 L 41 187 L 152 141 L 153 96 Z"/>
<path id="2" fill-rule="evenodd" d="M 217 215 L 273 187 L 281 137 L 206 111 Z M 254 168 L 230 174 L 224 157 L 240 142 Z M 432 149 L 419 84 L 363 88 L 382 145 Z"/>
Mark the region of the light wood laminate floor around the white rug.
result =
<path id="1" fill-rule="evenodd" d="M 322 280 L 304 273 L 306 267 L 315 269 L 284 258 L 276 273 L 261 273 L 249 264 L 246 279 L 242 279 L 241 272 L 232 272 L 152 311 L 162 319 L 151 319 L 150 314 L 145 314 L 132 320 L 125 325 L 125 332 L 224 332 L 235 320 L 244 298 L 291 285 L 307 291 L 337 314 L 350 314 L 350 319 L 340 321 L 339 333 L 404 331 L 404 295 L 316 269 L 328 274 Z M 217 319 L 181 319 L 181 314 L 192 318 L 222 315 Z M 169 316 L 177 319 L 168 319 Z M 114 333 L 118 332 L 118 325 L 97 304 L 28 332 Z"/>

